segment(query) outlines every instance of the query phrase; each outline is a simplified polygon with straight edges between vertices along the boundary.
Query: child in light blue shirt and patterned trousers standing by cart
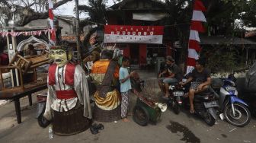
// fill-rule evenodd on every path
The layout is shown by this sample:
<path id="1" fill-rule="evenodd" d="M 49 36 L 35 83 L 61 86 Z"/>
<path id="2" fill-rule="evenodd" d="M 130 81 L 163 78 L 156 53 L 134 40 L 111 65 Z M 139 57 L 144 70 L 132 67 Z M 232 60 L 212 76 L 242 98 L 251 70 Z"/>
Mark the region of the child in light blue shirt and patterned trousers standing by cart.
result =
<path id="1" fill-rule="evenodd" d="M 119 80 L 120 80 L 120 91 L 122 96 L 121 103 L 121 117 L 123 122 L 129 122 L 127 119 L 127 111 L 129 106 L 129 91 L 132 89 L 130 77 L 133 76 L 134 72 L 129 74 L 127 67 L 130 65 L 130 61 L 127 57 L 122 59 L 122 67 L 119 70 Z"/>

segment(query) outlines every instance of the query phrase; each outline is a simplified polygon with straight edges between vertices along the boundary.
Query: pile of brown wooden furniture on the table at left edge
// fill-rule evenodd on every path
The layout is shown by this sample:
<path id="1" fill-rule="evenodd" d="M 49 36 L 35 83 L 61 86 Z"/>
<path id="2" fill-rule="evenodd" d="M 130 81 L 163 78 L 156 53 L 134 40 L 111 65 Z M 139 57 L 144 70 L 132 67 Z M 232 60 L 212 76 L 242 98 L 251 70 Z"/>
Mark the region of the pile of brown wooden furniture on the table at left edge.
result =
<path id="1" fill-rule="evenodd" d="M 2 91 L 24 91 L 27 88 L 36 87 L 40 84 L 45 84 L 46 74 L 41 75 L 42 77 L 40 77 L 40 80 L 38 80 L 36 68 L 52 62 L 52 59 L 49 58 L 49 55 L 49 52 L 44 51 L 41 55 L 38 56 L 22 57 L 18 54 L 18 52 L 16 52 L 8 66 L 0 67 L 0 82 L 2 84 Z M 10 74 L 18 75 L 16 79 L 12 79 L 18 81 L 18 86 L 5 86 L 5 81 L 2 74 L 8 72 Z"/>

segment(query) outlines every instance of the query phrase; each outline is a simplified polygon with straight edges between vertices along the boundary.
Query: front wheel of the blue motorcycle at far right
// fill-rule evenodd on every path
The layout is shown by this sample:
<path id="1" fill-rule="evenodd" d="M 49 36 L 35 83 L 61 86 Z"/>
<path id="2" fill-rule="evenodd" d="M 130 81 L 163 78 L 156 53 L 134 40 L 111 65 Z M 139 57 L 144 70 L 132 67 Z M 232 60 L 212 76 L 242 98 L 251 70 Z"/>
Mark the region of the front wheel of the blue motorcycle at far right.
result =
<path id="1" fill-rule="evenodd" d="M 248 125 L 251 120 L 251 113 L 247 106 L 243 105 L 242 103 L 234 103 L 234 107 L 235 116 L 232 114 L 232 106 L 230 103 L 225 107 L 223 112 L 225 119 L 234 126 L 244 127 Z"/>

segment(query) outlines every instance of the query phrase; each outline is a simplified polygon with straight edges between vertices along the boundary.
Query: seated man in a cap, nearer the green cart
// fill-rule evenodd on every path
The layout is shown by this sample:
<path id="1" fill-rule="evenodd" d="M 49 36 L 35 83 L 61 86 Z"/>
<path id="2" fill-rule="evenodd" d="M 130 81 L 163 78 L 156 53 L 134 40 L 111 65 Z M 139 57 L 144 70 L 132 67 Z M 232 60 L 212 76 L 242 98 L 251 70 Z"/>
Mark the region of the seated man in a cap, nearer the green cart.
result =
<path id="1" fill-rule="evenodd" d="M 164 89 L 165 96 L 163 98 L 168 99 L 169 97 L 169 84 L 178 83 L 181 81 L 181 71 L 178 68 L 178 65 L 175 64 L 174 59 L 171 56 L 166 56 L 166 65 L 165 70 L 158 75 L 158 84 L 161 89 Z M 167 75 L 165 78 L 162 78 L 163 75 Z M 164 86 L 162 86 L 164 83 Z"/>

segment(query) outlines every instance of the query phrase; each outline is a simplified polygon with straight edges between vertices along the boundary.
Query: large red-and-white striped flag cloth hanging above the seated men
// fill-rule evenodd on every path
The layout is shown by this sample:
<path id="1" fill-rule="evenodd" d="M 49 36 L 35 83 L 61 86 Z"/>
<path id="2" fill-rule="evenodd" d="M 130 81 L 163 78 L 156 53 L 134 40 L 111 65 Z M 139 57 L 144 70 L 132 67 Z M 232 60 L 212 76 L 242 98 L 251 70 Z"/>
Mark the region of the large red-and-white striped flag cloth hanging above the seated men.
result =
<path id="1" fill-rule="evenodd" d="M 203 11 L 206 11 L 203 2 L 195 0 L 188 42 L 187 74 L 194 69 L 196 60 L 199 59 L 198 52 L 201 50 L 199 32 L 205 31 L 202 22 L 206 22 Z"/>

